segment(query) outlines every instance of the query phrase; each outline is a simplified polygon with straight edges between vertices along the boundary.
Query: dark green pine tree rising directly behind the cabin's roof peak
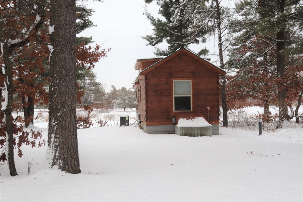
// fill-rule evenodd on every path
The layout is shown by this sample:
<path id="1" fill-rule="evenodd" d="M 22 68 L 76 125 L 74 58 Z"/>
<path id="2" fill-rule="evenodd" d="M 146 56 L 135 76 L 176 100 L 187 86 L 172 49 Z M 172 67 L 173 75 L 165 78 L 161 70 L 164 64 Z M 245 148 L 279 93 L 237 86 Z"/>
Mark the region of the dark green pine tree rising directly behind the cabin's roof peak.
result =
<path id="1" fill-rule="evenodd" d="M 145 0 L 146 3 L 151 3 L 150 0 Z M 148 41 L 147 45 L 155 47 L 156 56 L 165 56 L 175 52 L 178 48 L 188 48 L 190 44 L 199 44 L 205 42 L 205 34 L 207 30 L 195 31 L 195 16 L 189 15 L 190 8 L 198 8 L 204 5 L 204 1 L 195 0 L 158 0 L 159 14 L 165 19 L 155 18 L 145 10 L 146 18 L 151 22 L 153 35 L 142 37 Z M 168 48 L 161 50 L 157 47 L 161 42 L 167 42 Z M 199 55 L 206 55 L 206 48 L 199 51 Z"/>

